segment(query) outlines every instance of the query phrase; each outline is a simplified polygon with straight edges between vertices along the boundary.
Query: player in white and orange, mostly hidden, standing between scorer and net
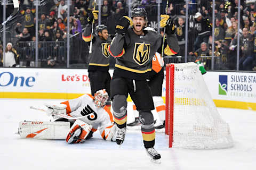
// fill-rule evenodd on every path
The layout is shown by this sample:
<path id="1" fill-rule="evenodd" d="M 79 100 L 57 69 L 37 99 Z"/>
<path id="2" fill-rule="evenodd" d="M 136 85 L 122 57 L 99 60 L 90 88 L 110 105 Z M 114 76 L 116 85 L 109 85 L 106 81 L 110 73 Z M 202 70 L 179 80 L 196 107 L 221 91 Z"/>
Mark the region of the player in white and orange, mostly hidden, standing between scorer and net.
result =
<path id="1" fill-rule="evenodd" d="M 164 100 L 162 98 L 164 69 L 163 67 L 161 67 L 162 65 L 164 65 L 164 61 L 161 60 L 161 54 L 156 52 L 152 60 L 152 70 L 149 72 L 149 77 L 147 78 L 147 82 L 149 84 L 149 87 L 153 95 L 153 102 L 155 105 L 155 109 L 158 114 L 158 116 L 155 116 L 155 117 L 158 117 L 159 119 L 158 124 L 156 124 L 155 126 L 155 129 L 162 129 L 165 127 L 165 106 L 164 106 Z M 127 124 L 127 126 L 140 125 L 139 113 L 134 104 L 133 104 L 133 115 L 134 115 L 134 121 L 132 123 Z"/>

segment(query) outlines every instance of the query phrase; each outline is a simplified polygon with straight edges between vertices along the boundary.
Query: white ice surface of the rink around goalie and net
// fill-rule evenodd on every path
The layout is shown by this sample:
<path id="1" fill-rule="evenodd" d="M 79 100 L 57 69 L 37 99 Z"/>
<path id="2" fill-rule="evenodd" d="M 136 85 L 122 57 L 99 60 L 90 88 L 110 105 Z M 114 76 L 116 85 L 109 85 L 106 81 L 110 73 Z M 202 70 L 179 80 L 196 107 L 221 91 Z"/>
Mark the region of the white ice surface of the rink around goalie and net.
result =
<path id="1" fill-rule="evenodd" d="M 49 99 L 0 99 L 0 169 L 255 169 L 256 111 L 218 108 L 229 123 L 234 147 L 229 149 L 192 150 L 169 148 L 167 135 L 156 133 L 155 148 L 162 164 L 150 162 L 143 148 L 140 131 L 127 131 L 121 148 L 104 141 L 98 132 L 92 139 L 77 145 L 63 140 L 21 139 L 14 134 L 21 121 L 48 121 L 42 108 Z M 131 108 L 131 107 L 130 107 Z M 128 111 L 128 113 L 131 111 Z"/>

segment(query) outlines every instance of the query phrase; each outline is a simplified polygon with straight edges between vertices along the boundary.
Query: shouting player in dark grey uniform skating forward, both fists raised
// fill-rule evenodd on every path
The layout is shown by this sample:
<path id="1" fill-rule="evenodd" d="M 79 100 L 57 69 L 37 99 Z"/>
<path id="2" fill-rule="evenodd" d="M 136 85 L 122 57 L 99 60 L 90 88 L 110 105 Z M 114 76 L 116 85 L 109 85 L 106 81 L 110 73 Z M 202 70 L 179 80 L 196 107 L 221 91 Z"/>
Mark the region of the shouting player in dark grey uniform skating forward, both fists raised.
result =
<path id="1" fill-rule="evenodd" d="M 179 52 L 175 25 L 169 15 L 162 15 L 161 25 L 166 27 L 167 44 L 173 53 Z M 155 128 L 151 110 L 154 103 L 147 73 L 151 71 L 151 61 L 155 53 L 162 51 L 162 36 L 156 31 L 144 30 L 147 26 L 147 12 L 143 8 L 134 8 L 132 20 L 123 16 L 116 25 L 116 35 L 109 46 L 109 52 L 116 58 L 115 70 L 111 80 L 111 100 L 114 121 L 118 132 L 116 143 L 121 145 L 126 133 L 127 96 L 130 94 L 141 122 L 141 132 L 147 154 L 155 162 L 161 155 L 154 149 Z M 132 27 L 129 27 L 131 25 Z"/>

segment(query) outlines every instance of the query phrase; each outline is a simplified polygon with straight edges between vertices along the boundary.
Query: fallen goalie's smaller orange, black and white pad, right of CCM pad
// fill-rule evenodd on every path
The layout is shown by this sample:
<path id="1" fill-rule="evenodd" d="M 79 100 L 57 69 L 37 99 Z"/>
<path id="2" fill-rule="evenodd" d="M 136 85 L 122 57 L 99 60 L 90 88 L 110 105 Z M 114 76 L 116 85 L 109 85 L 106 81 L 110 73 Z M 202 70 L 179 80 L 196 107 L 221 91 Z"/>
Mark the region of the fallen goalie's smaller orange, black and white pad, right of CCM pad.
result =
<path id="1" fill-rule="evenodd" d="M 86 139 L 91 130 L 92 125 L 89 125 L 81 120 L 76 120 L 67 134 L 66 142 L 68 144 L 81 143 Z"/>

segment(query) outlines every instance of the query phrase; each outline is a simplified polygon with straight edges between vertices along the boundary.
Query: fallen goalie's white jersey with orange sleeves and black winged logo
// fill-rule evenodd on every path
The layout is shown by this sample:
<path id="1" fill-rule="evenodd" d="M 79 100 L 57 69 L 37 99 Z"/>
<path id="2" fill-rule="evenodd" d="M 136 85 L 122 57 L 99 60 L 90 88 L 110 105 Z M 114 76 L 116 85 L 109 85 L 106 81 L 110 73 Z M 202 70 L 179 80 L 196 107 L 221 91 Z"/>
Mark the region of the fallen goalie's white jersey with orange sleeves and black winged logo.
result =
<path id="1" fill-rule="evenodd" d="M 90 94 L 64 101 L 61 104 L 67 105 L 66 111 L 69 116 L 84 116 L 80 120 L 92 125 L 92 132 L 98 129 L 103 139 L 111 141 L 115 133 L 115 126 L 113 115 L 107 106 L 96 107 L 93 103 L 93 96 Z"/>

